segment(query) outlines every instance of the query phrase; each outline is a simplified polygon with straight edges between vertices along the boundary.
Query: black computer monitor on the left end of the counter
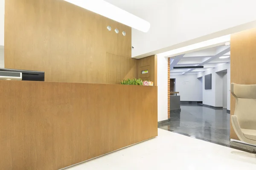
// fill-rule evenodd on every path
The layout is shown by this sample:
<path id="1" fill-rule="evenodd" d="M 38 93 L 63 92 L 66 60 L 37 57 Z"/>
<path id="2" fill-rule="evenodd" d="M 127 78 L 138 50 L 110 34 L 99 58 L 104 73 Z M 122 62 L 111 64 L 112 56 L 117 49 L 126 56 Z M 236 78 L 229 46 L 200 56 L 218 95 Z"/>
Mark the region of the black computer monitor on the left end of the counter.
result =
<path id="1" fill-rule="evenodd" d="M 8 68 L 0 68 L 0 71 L 20 72 L 22 73 L 22 80 L 26 81 L 44 81 L 44 71 L 17 70 Z"/>

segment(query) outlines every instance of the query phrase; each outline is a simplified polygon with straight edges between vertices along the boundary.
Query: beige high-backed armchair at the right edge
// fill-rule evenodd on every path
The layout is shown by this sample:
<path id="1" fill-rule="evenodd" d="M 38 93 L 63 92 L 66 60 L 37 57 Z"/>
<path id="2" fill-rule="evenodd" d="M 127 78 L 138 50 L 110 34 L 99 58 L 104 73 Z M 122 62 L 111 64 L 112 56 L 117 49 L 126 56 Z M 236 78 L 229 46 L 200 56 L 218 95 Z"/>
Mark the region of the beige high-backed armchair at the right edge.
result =
<path id="1" fill-rule="evenodd" d="M 256 144 L 256 85 L 231 84 L 236 108 L 231 123 L 241 141 Z"/>

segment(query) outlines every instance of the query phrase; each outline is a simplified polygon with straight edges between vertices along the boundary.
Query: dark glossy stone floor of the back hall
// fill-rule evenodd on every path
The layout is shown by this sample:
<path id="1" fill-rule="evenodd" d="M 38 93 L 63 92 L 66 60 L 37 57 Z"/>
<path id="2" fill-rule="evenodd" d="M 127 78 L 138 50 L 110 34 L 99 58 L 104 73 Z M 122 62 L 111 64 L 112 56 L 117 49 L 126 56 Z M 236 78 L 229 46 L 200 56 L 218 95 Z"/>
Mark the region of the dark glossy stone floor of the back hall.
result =
<path id="1" fill-rule="evenodd" d="M 159 128 L 227 147 L 253 152 L 244 144 L 230 142 L 230 114 L 226 109 L 214 109 L 200 104 L 181 105 L 180 113 L 172 113 L 170 122 Z"/>

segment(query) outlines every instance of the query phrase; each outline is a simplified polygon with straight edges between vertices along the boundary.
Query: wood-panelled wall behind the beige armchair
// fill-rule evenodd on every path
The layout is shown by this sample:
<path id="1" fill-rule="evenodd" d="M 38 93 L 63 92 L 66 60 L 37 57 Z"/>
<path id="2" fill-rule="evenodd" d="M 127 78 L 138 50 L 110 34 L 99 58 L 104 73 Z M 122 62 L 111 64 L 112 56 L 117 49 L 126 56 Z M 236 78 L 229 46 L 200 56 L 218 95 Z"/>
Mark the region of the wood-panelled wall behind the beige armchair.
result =
<path id="1" fill-rule="evenodd" d="M 232 34 L 230 44 L 230 81 L 244 85 L 256 84 L 256 28 Z M 230 115 L 233 115 L 236 99 L 230 96 Z M 230 138 L 239 140 L 231 122 Z"/>

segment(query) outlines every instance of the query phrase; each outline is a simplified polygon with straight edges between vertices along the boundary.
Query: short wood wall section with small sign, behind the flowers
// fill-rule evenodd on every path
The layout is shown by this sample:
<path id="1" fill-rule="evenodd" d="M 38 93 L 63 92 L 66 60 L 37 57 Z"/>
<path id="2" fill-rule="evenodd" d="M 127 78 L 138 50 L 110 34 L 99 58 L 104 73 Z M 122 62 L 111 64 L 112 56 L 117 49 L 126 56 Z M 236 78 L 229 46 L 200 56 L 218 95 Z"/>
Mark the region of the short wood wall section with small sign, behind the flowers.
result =
<path id="1" fill-rule="evenodd" d="M 145 70 L 148 70 L 148 73 L 142 74 Z M 143 81 L 150 80 L 157 85 L 157 55 L 137 60 L 137 77 Z"/>

